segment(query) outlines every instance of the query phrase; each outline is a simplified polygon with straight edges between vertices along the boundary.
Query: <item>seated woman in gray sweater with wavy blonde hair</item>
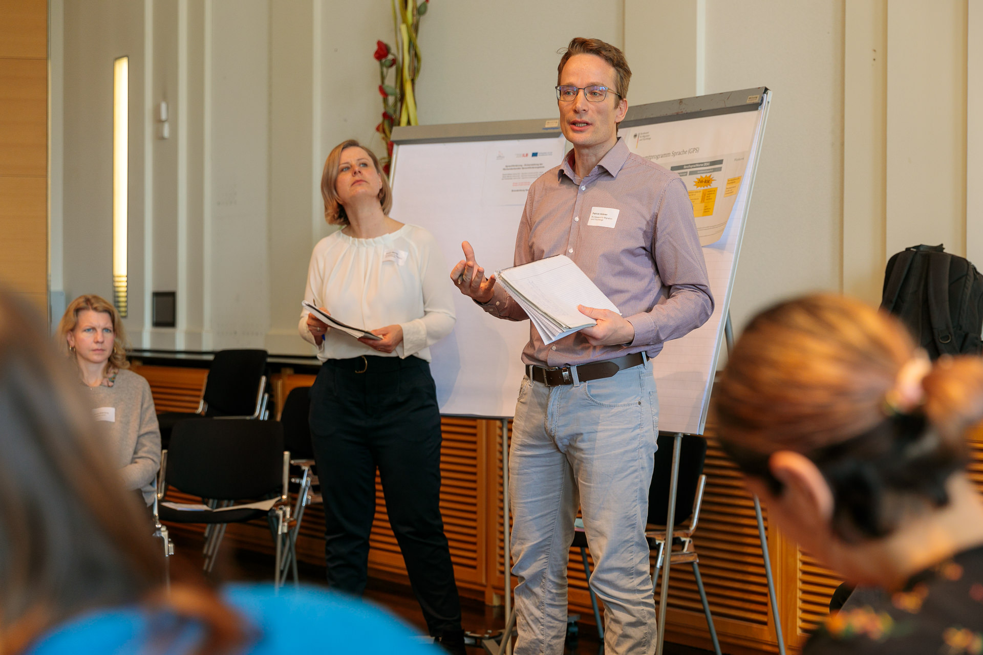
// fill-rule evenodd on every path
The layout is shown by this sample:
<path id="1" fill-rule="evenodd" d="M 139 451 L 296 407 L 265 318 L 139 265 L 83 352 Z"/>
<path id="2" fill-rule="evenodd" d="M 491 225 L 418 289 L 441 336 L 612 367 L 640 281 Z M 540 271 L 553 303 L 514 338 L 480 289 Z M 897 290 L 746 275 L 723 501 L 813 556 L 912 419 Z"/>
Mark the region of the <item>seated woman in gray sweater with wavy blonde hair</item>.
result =
<path id="1" fill-rule="evenodd" d="M 57 344 L 76 364 L 92 418 L 127 489 L 153 504 L 160 468 L 160 430 L 150 385 L 127 370 L 119 313 L 98 296 L 72 300 L 58 324 Z"/>

